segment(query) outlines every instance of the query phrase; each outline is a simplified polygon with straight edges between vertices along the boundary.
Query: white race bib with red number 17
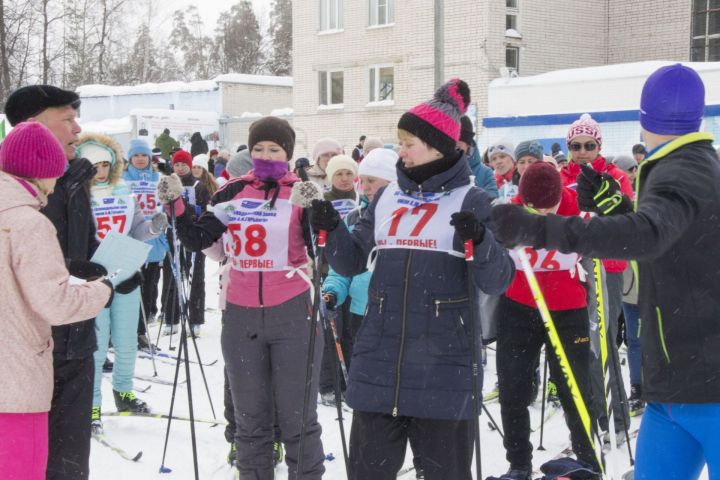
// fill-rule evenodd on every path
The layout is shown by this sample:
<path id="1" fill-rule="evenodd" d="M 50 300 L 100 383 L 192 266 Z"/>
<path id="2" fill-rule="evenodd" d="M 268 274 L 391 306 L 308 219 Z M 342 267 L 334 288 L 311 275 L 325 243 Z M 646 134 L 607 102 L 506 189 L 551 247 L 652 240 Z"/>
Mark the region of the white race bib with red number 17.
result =
<path id="1" fill-rule="evenodd" d="M 382 248 L 410 248 L 446 252 L 453 249 L 455 229 L 450 216 L 462 209 L 471 186 L 448 192 L 408 195 L 396 182 L 386 187 L 375 207 L 375 244 Z"/>

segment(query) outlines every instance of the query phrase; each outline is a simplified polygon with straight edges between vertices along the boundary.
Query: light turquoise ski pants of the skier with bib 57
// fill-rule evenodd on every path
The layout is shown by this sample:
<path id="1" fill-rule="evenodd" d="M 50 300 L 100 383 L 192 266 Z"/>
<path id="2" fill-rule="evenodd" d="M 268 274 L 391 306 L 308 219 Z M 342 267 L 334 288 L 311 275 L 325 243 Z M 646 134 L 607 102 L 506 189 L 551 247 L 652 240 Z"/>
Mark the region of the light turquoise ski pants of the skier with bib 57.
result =
<path id="1" fill-rule="evenodd" d="M 140 309 L 140 289 L 127 295 L 115 293 L 110 308 L 104 309 L 95 318 L 98 349 L 95 351 L 95 383 L 93 406 L 102 405 L 102 366 L 107 355 L 110 338 L 115 348 L 113 366 L 113 389 L 129 392 L 133 388 L 135 359 L 137 358 L 137 324 Z M 88 412 L 89 415 L 89 412 Z"/>

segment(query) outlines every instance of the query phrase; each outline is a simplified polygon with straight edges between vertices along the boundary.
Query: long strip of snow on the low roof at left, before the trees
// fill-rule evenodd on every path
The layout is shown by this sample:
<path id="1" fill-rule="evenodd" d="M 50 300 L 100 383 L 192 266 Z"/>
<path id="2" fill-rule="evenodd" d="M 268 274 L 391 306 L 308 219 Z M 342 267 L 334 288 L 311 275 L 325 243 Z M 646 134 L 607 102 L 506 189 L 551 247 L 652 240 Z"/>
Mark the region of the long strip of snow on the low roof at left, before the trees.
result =
<path id="1" fill-rule="evenodd" d="M 212 80 L 195 82 L 163 82 L 142 83 L 140 85 L 81 85 L 75 90 L 81 97 L 111 97 L 117 95 L 146 95 L 153 93 L 172 92 L 206 92 L 217 90 L 219 83 L 242 83 L 248 85 L 268 85 L 276 87 L 292 87 L 292 77 L 275 77 L 271 75 L 245 75 L 227 73 Z"/>

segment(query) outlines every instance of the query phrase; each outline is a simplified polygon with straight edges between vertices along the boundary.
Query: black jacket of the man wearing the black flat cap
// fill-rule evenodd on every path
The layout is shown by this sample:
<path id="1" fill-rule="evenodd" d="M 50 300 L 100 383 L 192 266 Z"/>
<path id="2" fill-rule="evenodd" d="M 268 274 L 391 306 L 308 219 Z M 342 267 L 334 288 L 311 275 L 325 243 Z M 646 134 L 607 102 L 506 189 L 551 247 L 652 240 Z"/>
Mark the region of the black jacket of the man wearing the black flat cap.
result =
<path id="1" fill-rule="evenodd" d="M 89 260 L 98 246 L 90 209 L 89 181 L 94 175 L 95 169 L 89 161 L 73 160 L 42 209 L 55 226 L 60 248 L 69 260 Z M 52 333 L 56 357 L 86 358 L 97 349 L 95 319 L 52 327 Z"/>

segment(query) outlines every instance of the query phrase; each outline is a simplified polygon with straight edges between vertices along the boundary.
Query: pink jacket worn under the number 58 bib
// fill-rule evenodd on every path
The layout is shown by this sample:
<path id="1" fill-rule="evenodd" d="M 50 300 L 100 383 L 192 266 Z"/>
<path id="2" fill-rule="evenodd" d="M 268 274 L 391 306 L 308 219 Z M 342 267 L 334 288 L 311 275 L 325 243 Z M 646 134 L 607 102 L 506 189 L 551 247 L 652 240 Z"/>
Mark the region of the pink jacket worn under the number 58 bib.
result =
<path id="1" fill-rule="evenodd" d="M 241 177 L 247 185 L 238 193 L 235 198 L 264 199 L 266 192 L 259 190 L 263 183 L 258 180 L 251 171 Z M 299 181 L 294 173 L 288 172 L 279 180 L 280 193 L 278 198 L 289 199 L 293 183 Z M 272 191 L 270 195 L 272 195 Z M 290 232 L 288 235 L 288 260 L 290 266 L 296 267 L 298 271 L 305 270 L 308 263 L 307 250 L 302 232 L 303 210 L 300 207 L 292 207 L 290 219 Z M 260 279 L 262 278 L 262 284 Z M 273 307 L 280 305 L 293 297 L 300 295 L 310 289 L 310 285 L 304 280 L 300 273 L 295 273 L 290 278 L 287 272 L 243 272 L 230 269 L 230 283 L 227 290 L 227 301 L 242 307 L 259 307 L 260 297 L 262 305 Z"/>

